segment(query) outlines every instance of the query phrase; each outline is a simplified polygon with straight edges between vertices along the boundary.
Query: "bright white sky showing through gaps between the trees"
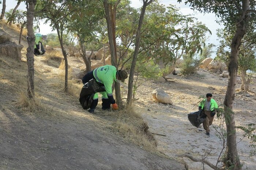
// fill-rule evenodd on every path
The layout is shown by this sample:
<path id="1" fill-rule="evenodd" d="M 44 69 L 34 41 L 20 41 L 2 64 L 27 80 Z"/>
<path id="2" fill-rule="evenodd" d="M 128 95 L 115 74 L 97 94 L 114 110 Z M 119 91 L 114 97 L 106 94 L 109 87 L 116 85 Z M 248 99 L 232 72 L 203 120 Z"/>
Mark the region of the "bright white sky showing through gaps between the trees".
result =
<path id="1" fill-rule="evenodd" d="M 130 0 L 131 6 L 134 8 L 140 8 L 142 7 L 142 0 Z M 177 8 L 180 8 L 180 11 L 183 15 L 193 15 L 195 18 L 198 19 L 198 21 L 202 22 L 203 24 L 206 24 L 206 26 L 211 30 L 212 35 L 208 35 L 209 39 L 207 40 L 207 43 L 213 43 L 215 45 L 218 45 L 218 37 L 216 35 L 216 30 L 218 28 L 223 28 L 223 26 L 220 26 L 215 22 L 218 18 L 215 17 L 215 14 L 213 13 L 199 13 L 195 12 L 192 9 L 190 9 L 189 5 L 185 5 L 184 3 L 178 3 L 177 0 L 159 0 L 159 3 L 164 4 L 165 6 L 168 6 L 169 4 L 176 5 Z M 16 5 L 15 0 L 6 0 L 6 11 L 9 11 L 11 8 L 14 8 Z M 1 5 L 0 5 L 1 8 Z M 18 9 L 26 10 L 26 5 L 24 2 L 22 2 Z M 40 25 L 40 33 L 41 34 L 49 34 L 52 32 L 51 27 L 49 24 L 43 24 Z"/>

